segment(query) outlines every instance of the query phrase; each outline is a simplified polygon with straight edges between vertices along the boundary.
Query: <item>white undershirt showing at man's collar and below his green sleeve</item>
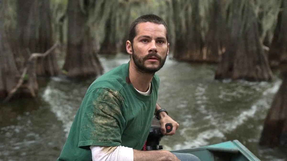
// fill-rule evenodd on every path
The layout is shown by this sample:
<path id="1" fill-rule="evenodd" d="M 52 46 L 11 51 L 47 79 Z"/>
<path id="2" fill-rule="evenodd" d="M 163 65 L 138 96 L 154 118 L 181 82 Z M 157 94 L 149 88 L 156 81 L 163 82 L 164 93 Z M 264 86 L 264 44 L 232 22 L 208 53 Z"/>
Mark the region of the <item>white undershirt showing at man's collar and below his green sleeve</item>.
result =
<path id="1" fill-rule="evenodd" d="M 139 90 L 137 90 L 137 92 L 148 96 L 151 93 L 150 86 L 146 92 L 141 92 Z M 93 161 L 133 161 L 133 148 L 125 146 L 90 146 L 90 149 Z"/>

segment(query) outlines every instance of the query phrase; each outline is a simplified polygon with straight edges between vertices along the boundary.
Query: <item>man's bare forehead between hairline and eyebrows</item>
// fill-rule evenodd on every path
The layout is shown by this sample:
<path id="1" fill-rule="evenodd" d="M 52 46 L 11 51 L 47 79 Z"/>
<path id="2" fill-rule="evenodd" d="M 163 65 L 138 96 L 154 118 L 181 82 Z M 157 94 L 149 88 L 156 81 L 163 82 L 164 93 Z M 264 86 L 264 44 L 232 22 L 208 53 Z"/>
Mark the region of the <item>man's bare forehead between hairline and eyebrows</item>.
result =
<path id="1" fill-rule="evenodd" d="M 163 24 L 156 24 L 152 22 L 142 22 L 136 26 L 137 35 L 152 34 L 166 37 L 166 28 Z"/>

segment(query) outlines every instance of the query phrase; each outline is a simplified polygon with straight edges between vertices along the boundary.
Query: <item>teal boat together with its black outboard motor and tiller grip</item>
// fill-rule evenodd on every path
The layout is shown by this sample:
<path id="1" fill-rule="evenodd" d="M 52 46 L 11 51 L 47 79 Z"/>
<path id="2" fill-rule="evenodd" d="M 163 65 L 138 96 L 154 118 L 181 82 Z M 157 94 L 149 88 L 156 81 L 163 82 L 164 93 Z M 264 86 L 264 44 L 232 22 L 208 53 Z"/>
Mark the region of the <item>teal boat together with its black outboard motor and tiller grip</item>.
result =
<path id="1" fill-rule="evenodd" d="M 168 125 L 170 126 L 170 125 Z M 166 125 L 167 129 L 167 125 Z M 171 128 L 168 127 L 171 131 Z M 163 149 L 159 142 L 164 135 L 161 133 L 160 125 L 152 125 L 146 144 L 142 150 Z M 201 146 L 197 148 L 174 150 L 171 152 L 190 153 L 197 156 L 201 161 L 260 161 L 248 148 L 238 140 Z"/>

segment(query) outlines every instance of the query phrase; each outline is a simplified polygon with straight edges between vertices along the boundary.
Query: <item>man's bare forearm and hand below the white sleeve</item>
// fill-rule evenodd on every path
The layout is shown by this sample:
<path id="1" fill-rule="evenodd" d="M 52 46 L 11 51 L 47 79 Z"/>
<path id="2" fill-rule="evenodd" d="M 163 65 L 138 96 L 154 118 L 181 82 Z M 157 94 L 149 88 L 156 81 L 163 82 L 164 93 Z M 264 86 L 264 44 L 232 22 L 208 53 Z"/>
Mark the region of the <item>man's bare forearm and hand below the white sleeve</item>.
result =
<path id="1" fill-rule="evenodd" d="M 178 158 L 167 150 L 140 151 L 133 149 L 133 161 L 176 161 Z"/>

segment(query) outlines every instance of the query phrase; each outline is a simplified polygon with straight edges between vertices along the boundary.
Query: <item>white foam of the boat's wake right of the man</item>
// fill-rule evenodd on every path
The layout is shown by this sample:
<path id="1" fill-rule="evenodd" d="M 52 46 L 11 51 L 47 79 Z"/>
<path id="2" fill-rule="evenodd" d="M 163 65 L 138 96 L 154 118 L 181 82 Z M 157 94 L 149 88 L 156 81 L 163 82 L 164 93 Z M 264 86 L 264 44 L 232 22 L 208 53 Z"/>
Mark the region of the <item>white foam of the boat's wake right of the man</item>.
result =
<path id="1" fill-rule="evenodd" d="M 231 121 L 228 121 L 224 124 L 218 123 L 218 121 L 214 117 L 214 114 L 210 113 L 208 110 L 205 109 L 205 105 L 204 105 L 205 101 L 202 97 L 202 95 L 205 92 L 205 89 L 202 87 L 198 87 L 197 91 L 196 91 L 197 92 L 196 95 L 199 99 L 197 101 L 197 104 L 199 104 L 199 110 L 201 111 L 201 113 L 203 113 L 205 115 L 208 114 L 208 116 L 205 116 L 203 118 L 208 119 L 210 122 L 210 125 L 214 125 L 216 128 L 203 131 L 203 132 L 199 133 L 196 138 L 184 136 L 185 131 L 187 130 L 187 129 L 184 129 L 181 132 L 181 136 L 185 137 L 186 138 L 185 140 L 190 140 L 190 141 L 187 141 L 184 144 L 177 144 L 173 148 L 170 148 L 170 147 L 168 147 L 168 148 L 170 150 L 188 149 L 188 148 L 208 145 L 208 144 L 210 144 L 208 140 L 210 140 L 212 138 L 222 138 L 224 140 L 224 138 L 225 138 L 224 133 L 230 133 L 231 131 L 234 131 L 234 129 L 236 129 L 237 127 L 246 123 L 246 121 L 248 119 L 255 117 L 258 110 L 262 110 L 262 108 L 268 109 L 270 107 L 270 103 L 268 103 L 268 101 L 266 100 L 266 96 L 276 93 L 278 91 L 280 85 L 281 85 L 281 82 L 282 81 L 280 81 L 280 80 L 276 81 L 272 87 L 266 89 L 262 93 L 262 98 L 259 99 L 258 101 L 256 101 L 251 106 L 250 109 L 242 111 L 237 117 L 234 117 Z M 245 82 L 245 83 L 248 83 L 248 82 Z M 250 83 L 250 84 L 252 84 L 252 83 Z M 266 83 L 260 83 L 259 85 L 264 86 L 264 85 L 266 85 Z M 256 87 L 254 87 L 254 88 L 256 88 Z M 236 93 L 232 93 L 231 95 L 236 95 Z M 222 98 L 224 98 L 224 97 L 222 97 Z M 189 122 L 185 121 L 184 125 L 185 124 L 189 124 Z"/>

